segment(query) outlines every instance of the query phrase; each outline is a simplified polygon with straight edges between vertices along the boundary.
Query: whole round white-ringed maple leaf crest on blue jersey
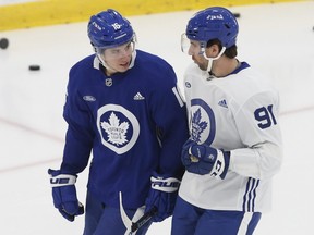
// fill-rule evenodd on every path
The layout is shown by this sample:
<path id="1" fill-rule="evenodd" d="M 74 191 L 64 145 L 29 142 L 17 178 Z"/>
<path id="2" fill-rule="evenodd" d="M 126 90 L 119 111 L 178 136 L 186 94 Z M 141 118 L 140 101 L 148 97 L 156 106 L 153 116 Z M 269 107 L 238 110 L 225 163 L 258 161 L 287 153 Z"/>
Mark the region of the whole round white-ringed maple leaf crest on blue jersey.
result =
<path id="1" fill-rule="evenodd" d="M 124 107 L 107 104 L 97 111 L 97 128 L 101 144 L 118 154 L 129 151 L 140 135 L 140 124 Z"/>

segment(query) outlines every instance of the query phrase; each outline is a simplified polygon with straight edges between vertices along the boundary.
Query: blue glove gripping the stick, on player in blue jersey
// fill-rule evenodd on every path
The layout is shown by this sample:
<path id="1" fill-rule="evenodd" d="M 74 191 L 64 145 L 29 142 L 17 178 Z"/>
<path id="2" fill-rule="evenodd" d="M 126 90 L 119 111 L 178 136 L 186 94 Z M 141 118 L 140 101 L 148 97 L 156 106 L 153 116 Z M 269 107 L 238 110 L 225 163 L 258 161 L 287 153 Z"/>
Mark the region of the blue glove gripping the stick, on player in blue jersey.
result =
<path id="1" fill-rule="evenodd" d="M 146 198 L 145 213 L 153 207 L 156 207 L 157 213 L 152 218 L 152 221 L 161 222 L 173 213 L 180 181 L 174 177 L 166 177 L 154 173 L 150 182 L 152 188 Z"/>

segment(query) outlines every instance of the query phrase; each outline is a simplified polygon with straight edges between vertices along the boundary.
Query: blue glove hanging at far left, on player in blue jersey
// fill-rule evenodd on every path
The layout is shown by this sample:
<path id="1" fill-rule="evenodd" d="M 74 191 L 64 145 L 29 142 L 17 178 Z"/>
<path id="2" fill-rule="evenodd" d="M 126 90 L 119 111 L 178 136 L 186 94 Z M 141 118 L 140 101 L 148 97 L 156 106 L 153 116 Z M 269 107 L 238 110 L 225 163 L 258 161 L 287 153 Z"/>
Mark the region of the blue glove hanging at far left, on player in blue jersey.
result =
<path id="1" fill-rule="evenodd" d="M 74 221 L 76 215 L 84 213 L 84 206 L 76 196 L 76 175 L 61 174 L 60 170 L 48 170 L 52 187 L 53 205 L 69 221 Z"/>

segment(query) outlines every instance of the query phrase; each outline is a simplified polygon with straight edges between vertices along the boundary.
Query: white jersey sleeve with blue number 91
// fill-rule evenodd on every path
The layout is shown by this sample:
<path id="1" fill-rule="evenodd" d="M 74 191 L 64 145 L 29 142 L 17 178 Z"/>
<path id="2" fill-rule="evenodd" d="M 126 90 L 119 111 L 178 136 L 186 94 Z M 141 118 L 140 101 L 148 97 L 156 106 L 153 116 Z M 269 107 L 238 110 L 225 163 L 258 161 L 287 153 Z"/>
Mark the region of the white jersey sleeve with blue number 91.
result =
<path id="1" fill-rule="evenodd" d="M 230 170 L 254 178 L 271 177 L 281 165 L 281 133 L 278 122 L 279 98 L 261 92 L 249 99 L 234 114 L 242 143 L 231 150 Z"/>

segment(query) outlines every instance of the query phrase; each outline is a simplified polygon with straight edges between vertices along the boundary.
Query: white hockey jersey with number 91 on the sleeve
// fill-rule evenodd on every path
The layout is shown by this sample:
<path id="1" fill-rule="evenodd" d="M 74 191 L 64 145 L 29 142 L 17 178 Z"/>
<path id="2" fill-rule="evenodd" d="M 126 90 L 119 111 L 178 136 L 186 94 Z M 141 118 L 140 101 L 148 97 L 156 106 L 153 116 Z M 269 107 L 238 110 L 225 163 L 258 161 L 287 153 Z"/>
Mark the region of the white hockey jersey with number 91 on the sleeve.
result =
<path id="1" fill-rule="evenodd" d="M 197 144 L 230 151 L 225 180 L 185 171 L 179 195 L 212 210 L 265 212 L 281 165 L 279 95 L 247 63 L 209 78 L 196 64 L 184 74 L 190 132 Z"/>

